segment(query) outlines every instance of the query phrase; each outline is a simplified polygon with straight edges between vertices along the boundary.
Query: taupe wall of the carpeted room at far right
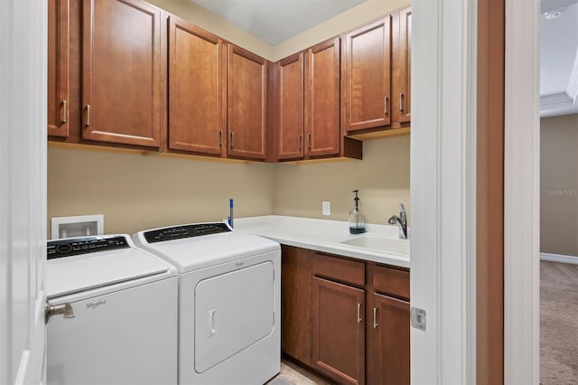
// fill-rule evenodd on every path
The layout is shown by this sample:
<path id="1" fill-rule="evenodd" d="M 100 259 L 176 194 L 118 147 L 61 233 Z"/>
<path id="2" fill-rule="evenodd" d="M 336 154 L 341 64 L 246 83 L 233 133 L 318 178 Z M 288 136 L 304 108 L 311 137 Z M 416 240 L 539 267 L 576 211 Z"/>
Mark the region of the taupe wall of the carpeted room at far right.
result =
<path id="1" fill-rule="evenodd" d="M 540 126 L 540 249 L 578 257 L 578 115 Z"/>

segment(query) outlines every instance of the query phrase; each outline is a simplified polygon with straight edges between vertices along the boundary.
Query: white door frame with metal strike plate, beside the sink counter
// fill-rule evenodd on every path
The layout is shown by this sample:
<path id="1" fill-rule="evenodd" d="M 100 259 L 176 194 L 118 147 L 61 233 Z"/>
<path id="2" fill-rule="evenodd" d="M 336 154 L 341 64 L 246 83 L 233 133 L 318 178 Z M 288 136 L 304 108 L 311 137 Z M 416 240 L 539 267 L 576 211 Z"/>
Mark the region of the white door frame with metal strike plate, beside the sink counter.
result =
<path id="1" fill-rule="evenodd" d="M 412 4 L 412 383 L 476 382 L 477 1 Z"/>

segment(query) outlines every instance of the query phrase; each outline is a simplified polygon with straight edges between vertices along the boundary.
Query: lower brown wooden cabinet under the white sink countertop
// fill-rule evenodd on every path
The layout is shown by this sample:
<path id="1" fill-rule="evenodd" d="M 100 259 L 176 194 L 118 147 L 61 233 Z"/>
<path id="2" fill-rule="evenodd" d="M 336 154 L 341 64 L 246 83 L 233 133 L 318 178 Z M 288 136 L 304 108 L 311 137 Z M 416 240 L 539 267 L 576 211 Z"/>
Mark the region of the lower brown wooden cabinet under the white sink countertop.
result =
<path id="1" fill-rule="evenodd" d="M 282 247 L 282 349 L 340 384 L 409 384 L 409 271 Z"/>

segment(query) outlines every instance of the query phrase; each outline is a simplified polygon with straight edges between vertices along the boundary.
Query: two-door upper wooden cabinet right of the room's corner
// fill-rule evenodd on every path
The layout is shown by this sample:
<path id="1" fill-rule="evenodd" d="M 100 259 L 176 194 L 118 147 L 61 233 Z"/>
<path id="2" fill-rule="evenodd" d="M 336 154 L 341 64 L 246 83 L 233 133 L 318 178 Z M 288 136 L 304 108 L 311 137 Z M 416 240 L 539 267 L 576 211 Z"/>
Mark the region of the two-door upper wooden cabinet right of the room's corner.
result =
<path id="1" fill-rule="evenodd" d="M 272 85 L 277 160 L 361 158 L 361 142 L 340 128 L 340 38 L 275 63 Z"/>

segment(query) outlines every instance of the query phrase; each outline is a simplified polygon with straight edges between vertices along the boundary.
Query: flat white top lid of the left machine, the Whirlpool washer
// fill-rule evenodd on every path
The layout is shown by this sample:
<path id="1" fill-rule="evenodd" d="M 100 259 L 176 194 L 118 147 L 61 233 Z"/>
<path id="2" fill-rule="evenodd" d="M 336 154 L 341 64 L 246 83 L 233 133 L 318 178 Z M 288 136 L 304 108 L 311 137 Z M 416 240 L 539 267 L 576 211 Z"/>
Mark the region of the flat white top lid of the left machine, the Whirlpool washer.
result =
<path id="1" fill-rule="evenodd" d="M 47 262 L 48 298 L 164 273 L 169 267 L 141 249 L 98 251 Z"/>

